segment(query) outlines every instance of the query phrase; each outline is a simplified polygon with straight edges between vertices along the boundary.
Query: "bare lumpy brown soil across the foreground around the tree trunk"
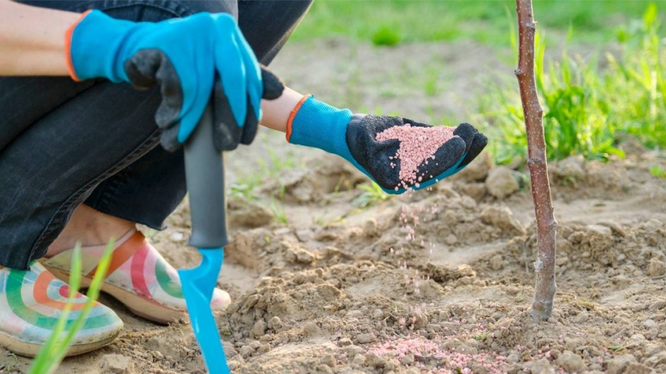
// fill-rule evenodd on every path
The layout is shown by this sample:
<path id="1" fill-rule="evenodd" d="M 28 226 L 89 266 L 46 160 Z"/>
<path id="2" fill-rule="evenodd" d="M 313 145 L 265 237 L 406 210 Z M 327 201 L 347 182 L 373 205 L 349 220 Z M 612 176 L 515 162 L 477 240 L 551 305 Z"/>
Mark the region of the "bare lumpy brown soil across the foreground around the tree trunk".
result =
<path id="1" fill-rule="evenodd" d="M 325 80 L 315 72 L 328 68 L 297 64 L 305 81 Z M 217 321 L 234 373 L 666 372 L 666 180 L 650 173 L 666 169 L 665 155 L 551 163 L 558 291 L 552 319 L 537 324 L 528 313 L 536 255 L 523 165 L 493 167 L 484 153 L 435 187 L 359 208 L 360 172 L 283 142 L 263 131 L 263 147 L 228 157 L 234 185 L 268 160 L 297 160 L 266 173 L 256 199 L 230 201 L 233 241 L 219 286 L 234 302 Z M 271 201 L 281 214 L 260 203 Z M 198 262 L 186 245 L 188 217 L 184 202 L 167 230 L 149 233 L 181 268 Z M 58 373 L 205 373 L 187 321 L 156 326 L 102 301 L 124 333 Z M 29 363 L 0 348 L 0 373 Z"/>

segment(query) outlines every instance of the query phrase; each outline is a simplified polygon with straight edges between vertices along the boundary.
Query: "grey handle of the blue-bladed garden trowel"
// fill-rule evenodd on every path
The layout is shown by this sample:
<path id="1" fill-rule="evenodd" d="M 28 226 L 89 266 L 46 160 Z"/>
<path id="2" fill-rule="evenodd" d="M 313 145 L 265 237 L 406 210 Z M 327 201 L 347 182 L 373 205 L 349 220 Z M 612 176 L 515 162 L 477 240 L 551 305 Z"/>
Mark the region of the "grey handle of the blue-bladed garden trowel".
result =
<path id="1" fill-rule="evenodd" d="M 190 197 L 190 246 L 221 248 L 226 236 L 224 156 L 213 145 L 213 114 L 206 106 L 197 128 L 185 143 L 185 178 Z"/>

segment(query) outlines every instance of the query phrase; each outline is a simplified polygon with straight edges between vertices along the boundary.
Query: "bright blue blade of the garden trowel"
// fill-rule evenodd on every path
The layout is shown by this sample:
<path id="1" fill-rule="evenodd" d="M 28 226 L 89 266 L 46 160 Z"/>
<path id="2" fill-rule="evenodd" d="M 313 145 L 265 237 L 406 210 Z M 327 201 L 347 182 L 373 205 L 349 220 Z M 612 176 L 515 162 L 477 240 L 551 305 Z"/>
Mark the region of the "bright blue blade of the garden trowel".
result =
<path id="1" fill-rule="evenodd" d="M 226 365 L 222 339 L 220 339 L 217 324 L 210 309 L 224 253 L 222 248 L 204 248 L 199 252 L 202 254 L 199 266 L 188 270 L 178 270 L 182 293 L 185 296 L 192 329 L 195 331 L 208 373 L 229 374 L 231 372 L 229 366 Z"/>

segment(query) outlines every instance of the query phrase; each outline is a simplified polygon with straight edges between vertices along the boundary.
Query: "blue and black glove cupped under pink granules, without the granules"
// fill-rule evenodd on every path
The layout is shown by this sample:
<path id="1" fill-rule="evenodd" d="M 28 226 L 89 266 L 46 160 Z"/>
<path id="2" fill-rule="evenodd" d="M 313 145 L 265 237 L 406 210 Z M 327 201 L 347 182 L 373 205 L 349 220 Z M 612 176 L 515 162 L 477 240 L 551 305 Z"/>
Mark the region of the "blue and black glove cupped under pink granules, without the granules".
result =
<path id="1" fill-rule="evenodd" d="M 418 166 L 417 175 L 422 180 L 405 185 L 399 177 L 400 160 L 393 158 L 400 141 L 376 141 L 378 133 L 405 123 L 432 127 L 400 117 L 352 114 L 349 109 L 337 109 L 306 97 L 291 116 L 287 140 L 341 156 L 390 194 L 429 187 L 454 175 L 474 160 L 487 143 L 483 134 L 462 123 L 452 129 L 454 136 L 437 149 L 435 160 Z"/>

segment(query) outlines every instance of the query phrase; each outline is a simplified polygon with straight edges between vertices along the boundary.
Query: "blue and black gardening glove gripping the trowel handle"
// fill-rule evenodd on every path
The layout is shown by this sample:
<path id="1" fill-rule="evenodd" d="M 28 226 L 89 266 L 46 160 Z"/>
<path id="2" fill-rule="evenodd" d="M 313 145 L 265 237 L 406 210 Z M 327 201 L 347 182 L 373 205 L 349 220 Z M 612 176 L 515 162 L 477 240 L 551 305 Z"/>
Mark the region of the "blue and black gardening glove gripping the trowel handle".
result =
<path id="1" fill-rule="evenodd" d="M 146 89 L 159 84 L 155 121 L 162 145 L 187 141 L 213 101 L 218 150 L 249 144 L 261 117 L 260 67 L 234 18 L 197 13 L 158 23 L 111 18 L 89 11 L 70 27 L 67 58 L 75 80 L 107 78 Z"/>

